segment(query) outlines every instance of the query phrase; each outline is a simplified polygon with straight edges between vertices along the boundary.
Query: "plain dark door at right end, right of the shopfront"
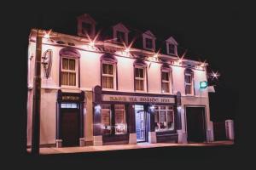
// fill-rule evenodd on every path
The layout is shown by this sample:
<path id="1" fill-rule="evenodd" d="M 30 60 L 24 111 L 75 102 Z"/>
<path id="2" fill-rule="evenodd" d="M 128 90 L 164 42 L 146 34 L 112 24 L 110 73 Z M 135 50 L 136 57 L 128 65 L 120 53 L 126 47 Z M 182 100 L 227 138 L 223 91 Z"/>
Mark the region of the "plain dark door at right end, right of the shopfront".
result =
<path id="1" fill-rule="evenodd" d="M 206 121 L 204 107 L 186 107 L 187 133 L 189 142 L 206 141 Z"/>

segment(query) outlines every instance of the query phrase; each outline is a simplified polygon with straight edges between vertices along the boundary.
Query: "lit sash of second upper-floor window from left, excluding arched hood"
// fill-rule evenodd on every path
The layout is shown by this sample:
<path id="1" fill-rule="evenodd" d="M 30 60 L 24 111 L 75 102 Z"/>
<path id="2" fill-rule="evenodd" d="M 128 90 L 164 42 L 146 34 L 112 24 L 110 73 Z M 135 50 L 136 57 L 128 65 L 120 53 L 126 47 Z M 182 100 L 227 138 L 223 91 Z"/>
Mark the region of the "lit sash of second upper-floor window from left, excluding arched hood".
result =
<path id="1" fill-rule="evenodd" d="M 102 88 L 112 88 L 114 80 L 113 64 L 102 63 Z"/>

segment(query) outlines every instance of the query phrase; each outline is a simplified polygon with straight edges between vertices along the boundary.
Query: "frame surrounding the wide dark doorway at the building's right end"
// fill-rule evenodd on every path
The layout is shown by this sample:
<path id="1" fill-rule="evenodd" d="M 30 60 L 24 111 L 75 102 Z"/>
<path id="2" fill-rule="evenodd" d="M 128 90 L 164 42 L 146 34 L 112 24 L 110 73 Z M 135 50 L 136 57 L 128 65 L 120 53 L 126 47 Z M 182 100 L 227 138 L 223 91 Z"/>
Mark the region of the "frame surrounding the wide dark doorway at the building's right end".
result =
<path id="1" fill-rule="evenodd" d="M 187 133 L 187 139 L 188 139 L 188 121 L 187 121 L 187 108 L 188 107 L 201 107 L 204 108 L 204 123 L 203 125 L 205 126 L 205 139 L 203 142 L 207 141 L 207 106 L 206 105 L 184 105 L 184 124 L 185 124 L 185 131 Z"/>

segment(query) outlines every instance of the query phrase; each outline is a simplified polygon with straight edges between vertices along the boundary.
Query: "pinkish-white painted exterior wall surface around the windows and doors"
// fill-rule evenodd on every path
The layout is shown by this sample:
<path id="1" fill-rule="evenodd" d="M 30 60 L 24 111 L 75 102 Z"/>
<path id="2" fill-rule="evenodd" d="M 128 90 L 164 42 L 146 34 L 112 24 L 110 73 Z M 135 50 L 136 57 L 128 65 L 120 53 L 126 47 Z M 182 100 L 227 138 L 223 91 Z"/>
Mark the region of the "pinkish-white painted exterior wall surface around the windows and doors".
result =
<path id="1" fill-rule="evenodd" d="M 30 42 L 28 52 L 28 86 L 32 88 L 34 62 L 35 62 L 35 42 Z M 40 144 L 55 144 L 56 129 L 56 98 L 57 89 L 59 89 L 60 75 L 60 55 L 63 47 L 42 45 L 42 55 L 47 49 L 52 49 L 52 69 L 50 77 L 44 77 L 44 68 L 42 67 L 42 94 L 41 94 L 41 123 L 40 123 Z M 92 106 L 92 88 L 101 85 L 101 53 L 93 53 L 79 50 L 80 57 L 80 88 L 61 88 L 67 92 L 85 91 L 84 103 L 84 138 L 86 143 L 93 140 L 93 106 Z M 29 59 L 31 56 L 32 59 Z M 135 59 L 116 56 L 118 63 L 118 91 L 134 93 L 134 72 L 133 62 Z M 146 61 L 148 67 L 148 93 L 161 94 L 160 63 Z M 149 67 L 150 65 L 150 67 Z M 199 82 L 207 80 L 206 71 L 194 71 L 195 96 L 185 96 L 184 93 L 184 70 L 185 68 L 172 65 L 172 89 L 173 94 L 177 91 L 182 94 L 182 132 L 186 133 L 184 105 L 205 105 L 207 116 L 207 139 L 213 140 L 212 122 L 210 122 L 210 111 L 208 104 L 207 88 L 200 89 Z M 146 90 L 144 93 L 147 93 Z M 27 144 L 31 145 L 32 135 L 32 90 L 28 91 L 27 99 Z"/>

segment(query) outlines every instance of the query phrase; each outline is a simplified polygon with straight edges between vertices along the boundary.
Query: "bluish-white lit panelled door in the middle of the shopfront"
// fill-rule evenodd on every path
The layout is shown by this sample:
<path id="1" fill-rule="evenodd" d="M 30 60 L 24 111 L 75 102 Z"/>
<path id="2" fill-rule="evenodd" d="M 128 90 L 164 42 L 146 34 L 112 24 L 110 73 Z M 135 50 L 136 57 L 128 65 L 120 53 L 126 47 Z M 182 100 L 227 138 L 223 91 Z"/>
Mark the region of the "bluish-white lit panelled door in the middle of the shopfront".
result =
<path id="1" fill-rule="evenodd" d="M 135 105 L 137 142 L 147 141 L 147 116 L 143 105 Z"/>

